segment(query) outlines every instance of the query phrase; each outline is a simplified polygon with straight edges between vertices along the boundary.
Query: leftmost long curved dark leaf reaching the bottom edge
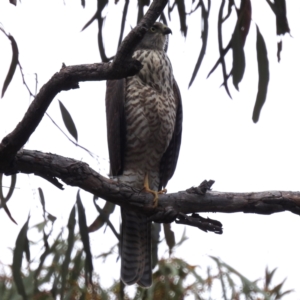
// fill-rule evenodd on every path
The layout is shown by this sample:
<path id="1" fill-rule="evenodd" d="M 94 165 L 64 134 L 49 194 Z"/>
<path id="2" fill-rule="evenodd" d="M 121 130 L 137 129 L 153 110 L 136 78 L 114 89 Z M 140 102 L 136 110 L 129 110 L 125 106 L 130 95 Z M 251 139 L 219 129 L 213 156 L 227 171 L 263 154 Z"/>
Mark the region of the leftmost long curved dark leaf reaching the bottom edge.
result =
<path id="1" fill-rule="evenodd" d="M 13 256 L 13 264 L 12 264 L 14 281 L 17 286 L 18 293 L 23 297 L 24 300 L 27 300 L 28 297 L 25 293 L 21 268 L 22 268 L 23 252 L 26 253 L 27 259 L 29 258 L 29 253 L 28 253 L 29 242 L 27 239 L 28 222 L 29 222 L 29 217 L 26 223 L 23 225 L 17 237 L 16 247 Z"/>

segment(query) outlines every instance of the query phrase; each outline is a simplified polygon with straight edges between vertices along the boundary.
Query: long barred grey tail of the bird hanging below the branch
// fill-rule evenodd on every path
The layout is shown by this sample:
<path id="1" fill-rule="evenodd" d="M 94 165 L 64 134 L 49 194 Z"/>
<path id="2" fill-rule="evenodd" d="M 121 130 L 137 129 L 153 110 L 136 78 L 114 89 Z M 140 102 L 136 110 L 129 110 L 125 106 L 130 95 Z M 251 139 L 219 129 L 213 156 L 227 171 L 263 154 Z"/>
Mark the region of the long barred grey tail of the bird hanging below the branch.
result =
<path id="1" fill-rule="evenodd" d="M 152 284 L 151 222 L 145 215 L 122 211 L 121 278 L 125 284 Z"/>

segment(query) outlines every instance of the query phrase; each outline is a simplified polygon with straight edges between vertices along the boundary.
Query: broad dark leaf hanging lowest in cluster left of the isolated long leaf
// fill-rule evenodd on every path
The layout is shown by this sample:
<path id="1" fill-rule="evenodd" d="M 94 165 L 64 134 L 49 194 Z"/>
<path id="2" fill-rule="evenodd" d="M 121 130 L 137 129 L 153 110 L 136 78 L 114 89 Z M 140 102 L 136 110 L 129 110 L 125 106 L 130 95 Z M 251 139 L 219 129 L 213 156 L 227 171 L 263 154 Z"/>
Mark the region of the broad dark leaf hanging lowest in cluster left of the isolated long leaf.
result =
<path id="1" fill-rule="evenodd" d="M 231 39 L 232 47 L 232 82 L 234 87 L 239 90 L 239 83 L 241 82 L 245 71 L 245 54 L 242 34 L 239 23 L 237 23 Z"/>

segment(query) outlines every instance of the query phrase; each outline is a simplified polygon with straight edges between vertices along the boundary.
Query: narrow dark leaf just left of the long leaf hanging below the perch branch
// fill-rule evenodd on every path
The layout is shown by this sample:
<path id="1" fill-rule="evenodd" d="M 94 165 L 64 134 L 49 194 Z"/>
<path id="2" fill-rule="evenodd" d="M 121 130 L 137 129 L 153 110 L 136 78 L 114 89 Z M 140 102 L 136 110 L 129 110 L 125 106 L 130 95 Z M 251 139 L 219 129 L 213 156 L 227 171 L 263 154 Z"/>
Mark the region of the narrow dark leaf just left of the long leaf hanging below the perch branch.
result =
<path id="1" fill-rule="evenodd" d="M 67 283 L 67 277 L 69 273 L 69 264 L 71 261 L 71 254 L 72 250 L 74 247 L 74 237 L 75 237 L 75 205 L 73 206 L 70 216 L 69 216 L 69 221 L 68 221 L 68 230 L 69 230 L 69 235 L 68 235 L 68 248 L 65 253 L 65 259 L 62 263 L 62 268 L 61 268 L 61 289 L 60 289 L 60 297 L 61 299 L 64 299 L 64 291 L 66 288 L 66 283 Z"/>

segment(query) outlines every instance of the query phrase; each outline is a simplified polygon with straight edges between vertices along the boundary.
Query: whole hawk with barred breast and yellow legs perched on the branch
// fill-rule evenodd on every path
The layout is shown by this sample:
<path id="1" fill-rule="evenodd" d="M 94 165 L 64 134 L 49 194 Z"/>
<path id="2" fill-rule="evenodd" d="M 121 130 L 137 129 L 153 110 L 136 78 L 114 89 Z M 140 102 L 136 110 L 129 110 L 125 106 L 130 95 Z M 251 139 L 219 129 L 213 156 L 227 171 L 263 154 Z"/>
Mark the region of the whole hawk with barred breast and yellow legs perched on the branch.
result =
<path id="1" fill-rule="evenodd" d="M 138 74 L 107 81 L 106 116 L 111 175 L 135 189 L 158 193 L 173 176 L 182 131 L 182 104 L 172 65 L 165 52 L 171 29 L 149 28 L 133 58 Z M 121 209 L 121 279 L 142 287 L 152 284 L 151 222 Z"/>

